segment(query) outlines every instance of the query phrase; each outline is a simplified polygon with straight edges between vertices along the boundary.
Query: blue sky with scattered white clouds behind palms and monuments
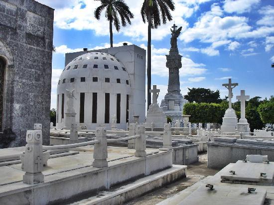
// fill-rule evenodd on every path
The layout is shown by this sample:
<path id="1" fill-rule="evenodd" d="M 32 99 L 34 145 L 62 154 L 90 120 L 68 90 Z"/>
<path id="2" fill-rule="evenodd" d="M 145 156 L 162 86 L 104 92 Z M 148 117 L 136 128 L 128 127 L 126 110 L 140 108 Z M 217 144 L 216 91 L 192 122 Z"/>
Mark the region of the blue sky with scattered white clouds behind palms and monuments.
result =
<path id="1" fill-rule="evenodd" d="M 104 13 L 98 21 L 93 0 L 38 0 L 55 8 L 51 107 L 56 107 L 56 87 L 64 68 L 64 53 L 83 48 L 109 47 L 109 24 Z M 142 0 L 125 0 L 135 18 L 132 25 L 114 33 L 115 46 L 123 42 L 146 48 L 147 25 L 141 21 Z M 239 83 L 233 101 L 246 90 L 250 97 L 274 95 L 274 0 L 174 0 L 173 20 L 152 30 L 152 84 L 167 91 L 165 54 L 170 47 L 169 28 L 182 26 L 178 48 L 182 58 L 181 93 L 187 88 L 220 90 L 232 78 Z"/>

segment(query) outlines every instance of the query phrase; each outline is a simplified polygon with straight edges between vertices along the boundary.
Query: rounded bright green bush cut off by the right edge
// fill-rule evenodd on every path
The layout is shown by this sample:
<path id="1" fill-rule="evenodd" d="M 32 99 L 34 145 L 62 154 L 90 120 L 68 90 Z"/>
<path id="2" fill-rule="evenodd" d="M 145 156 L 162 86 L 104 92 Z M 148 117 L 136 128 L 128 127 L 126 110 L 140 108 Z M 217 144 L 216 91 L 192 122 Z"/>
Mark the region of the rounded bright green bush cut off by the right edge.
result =
<path id="1" fill-rule="evenodd" d="M 274 101 L 260 104 L 258 106 L 258 112 L 264 123 L 274 124 Z"/>

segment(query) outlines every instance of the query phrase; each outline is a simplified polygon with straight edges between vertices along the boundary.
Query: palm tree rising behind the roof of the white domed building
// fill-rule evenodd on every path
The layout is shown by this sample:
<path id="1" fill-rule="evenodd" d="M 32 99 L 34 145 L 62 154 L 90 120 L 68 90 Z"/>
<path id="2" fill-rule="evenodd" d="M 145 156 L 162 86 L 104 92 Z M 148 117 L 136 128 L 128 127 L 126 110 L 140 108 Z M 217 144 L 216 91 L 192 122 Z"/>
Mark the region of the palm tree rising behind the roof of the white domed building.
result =
<path id="1" fill-rule="evenodd" d="M 124 0 L 97 0 L 101 1 L 101 5 L 94 11 L 94 16 L 97 20 L 101 17 L 101 12 L 106 8 L 105 16 L 110 21 L 110 42 L 111 47 L 113 47 L 113 32 L 112 32 L 112 22 L 117 31 L 120 30 L 120 15 L 122 26 L 126 26 L 127 22 L 132 24 L 131 18 L 134 17 L 133 13 L 130 11 L 129 6 Z"/>

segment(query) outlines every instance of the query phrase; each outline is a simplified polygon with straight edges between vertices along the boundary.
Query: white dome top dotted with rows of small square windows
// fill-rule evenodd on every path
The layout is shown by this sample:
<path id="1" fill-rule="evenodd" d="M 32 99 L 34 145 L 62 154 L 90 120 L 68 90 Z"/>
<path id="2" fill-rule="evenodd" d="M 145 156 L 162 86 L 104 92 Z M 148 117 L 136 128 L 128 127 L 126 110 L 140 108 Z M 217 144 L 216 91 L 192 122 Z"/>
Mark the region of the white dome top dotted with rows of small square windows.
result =
<path id="1" fill-rule="evenodd" d="M 57 94 L 65 93 L 66 89 L 75 89 L 75 93 L 131 94 L 130 85 L 127 69 L 117 58 L 92 52 L 75 58 L 65 67 L 59 78 Z"/>

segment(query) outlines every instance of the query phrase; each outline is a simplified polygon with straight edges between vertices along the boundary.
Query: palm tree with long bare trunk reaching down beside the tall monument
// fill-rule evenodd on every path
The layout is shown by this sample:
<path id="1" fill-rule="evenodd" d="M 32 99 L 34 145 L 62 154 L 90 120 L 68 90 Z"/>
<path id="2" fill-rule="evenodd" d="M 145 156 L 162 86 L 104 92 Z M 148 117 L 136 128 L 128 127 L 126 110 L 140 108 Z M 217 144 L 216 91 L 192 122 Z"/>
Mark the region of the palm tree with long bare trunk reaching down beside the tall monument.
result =
<path id="1" fill-rule="evenodd" d="M 172 16 L 170 10 L 174 10 L 174 2 L 172 0 L 144 0 L 141 8 L 142 20 L 148 22 L 147 29 L 147 110 L 151 104 L 151 28 L 157 28 L 166 23 L 166 20 L 171 21 Z"/>

